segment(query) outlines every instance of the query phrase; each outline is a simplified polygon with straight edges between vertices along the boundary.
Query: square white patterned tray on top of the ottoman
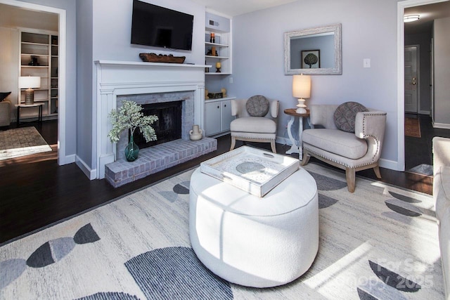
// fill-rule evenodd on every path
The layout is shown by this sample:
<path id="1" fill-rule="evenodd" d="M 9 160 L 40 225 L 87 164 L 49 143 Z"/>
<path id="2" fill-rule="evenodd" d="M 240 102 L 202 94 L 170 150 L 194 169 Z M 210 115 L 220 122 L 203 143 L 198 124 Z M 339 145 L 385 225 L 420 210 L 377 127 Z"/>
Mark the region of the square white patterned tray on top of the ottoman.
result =
<path id="1" fill-rule="evenodd" d="M 299 169 L 298 159 L 248 146 L 200 164 L 200 171 L 257 197 L 263 197 Z"/>

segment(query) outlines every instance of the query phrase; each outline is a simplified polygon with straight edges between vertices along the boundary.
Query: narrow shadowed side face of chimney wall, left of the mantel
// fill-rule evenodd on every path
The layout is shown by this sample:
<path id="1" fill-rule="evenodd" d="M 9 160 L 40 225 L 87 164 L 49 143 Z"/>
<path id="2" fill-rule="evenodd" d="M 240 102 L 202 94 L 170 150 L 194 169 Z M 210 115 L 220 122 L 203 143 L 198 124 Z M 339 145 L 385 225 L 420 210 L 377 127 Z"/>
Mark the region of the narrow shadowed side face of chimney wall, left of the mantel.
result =
<path id="1" fill-rule="evenodd" d="M 91 166 L 93 162 L 92 97 L 94 63 L 92 58 L 92 0 L 77 0 L 77 159 Z"/>

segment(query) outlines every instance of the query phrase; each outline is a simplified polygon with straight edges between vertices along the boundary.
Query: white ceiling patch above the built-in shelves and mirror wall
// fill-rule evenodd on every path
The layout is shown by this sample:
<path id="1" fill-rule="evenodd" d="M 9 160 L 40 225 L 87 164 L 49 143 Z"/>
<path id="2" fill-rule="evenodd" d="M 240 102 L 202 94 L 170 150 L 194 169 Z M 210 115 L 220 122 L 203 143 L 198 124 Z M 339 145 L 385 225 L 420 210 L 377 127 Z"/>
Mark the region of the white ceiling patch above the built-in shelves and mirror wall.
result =
<path id="1" fill-rule="evenodd" d="M 298 0 L 192 0 L 205 6 L 208 10 L 215 11 L 229 17 L 243 15 L 252 11 L 260 11 L 265 8 L 280 6 Z"/>

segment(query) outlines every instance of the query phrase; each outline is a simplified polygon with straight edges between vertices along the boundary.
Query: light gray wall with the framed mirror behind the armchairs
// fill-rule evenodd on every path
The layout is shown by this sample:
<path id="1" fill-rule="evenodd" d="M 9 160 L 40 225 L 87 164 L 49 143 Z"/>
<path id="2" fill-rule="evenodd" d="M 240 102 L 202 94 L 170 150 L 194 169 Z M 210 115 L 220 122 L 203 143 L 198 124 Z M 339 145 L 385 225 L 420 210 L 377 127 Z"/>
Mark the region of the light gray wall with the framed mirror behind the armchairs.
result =
<path id="1" fill-rule="evenodd" d="M 326 8 L 326 9 L 324 9 Z M 301 18 L 299 17 L 301 16 Z M 292 76 L 283 69 L 283 33 L 342 24 L 342 75 L 311 77 L 311 103 L 357 101 L 387 112 L 382 158 L 397 162 L 397 1 L 316 0 L 233 18 L 233 84 L 230 94 L 262 94 L 281 101 L 278 136 L 295 107 Z M 363 59 L 371 68 L 363 68 Z"/>

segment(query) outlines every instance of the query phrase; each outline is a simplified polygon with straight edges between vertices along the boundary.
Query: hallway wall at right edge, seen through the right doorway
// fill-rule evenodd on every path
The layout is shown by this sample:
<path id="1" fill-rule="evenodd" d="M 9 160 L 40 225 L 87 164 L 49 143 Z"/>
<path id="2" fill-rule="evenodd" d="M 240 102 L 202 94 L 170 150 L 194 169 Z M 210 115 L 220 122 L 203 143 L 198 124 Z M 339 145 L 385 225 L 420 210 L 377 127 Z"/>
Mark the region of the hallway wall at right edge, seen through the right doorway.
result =
<path id="1" fill-rule="evenodd" d="M 450 129 L 450 18 L 435 20 L 434 122 Z"/>

